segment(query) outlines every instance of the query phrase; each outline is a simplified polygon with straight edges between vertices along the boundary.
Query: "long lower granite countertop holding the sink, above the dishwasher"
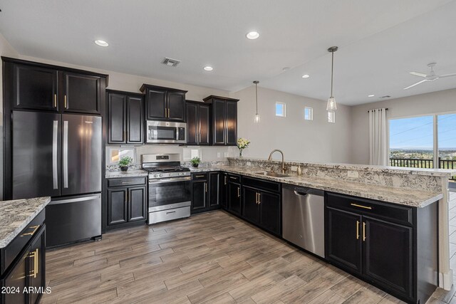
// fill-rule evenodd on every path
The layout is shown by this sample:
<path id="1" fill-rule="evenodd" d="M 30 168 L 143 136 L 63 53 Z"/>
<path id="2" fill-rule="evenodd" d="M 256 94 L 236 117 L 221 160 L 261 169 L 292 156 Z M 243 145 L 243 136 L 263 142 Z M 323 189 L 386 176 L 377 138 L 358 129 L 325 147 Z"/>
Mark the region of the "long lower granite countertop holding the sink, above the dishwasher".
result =
<path id="1" fill-rule="evenodd" d="M 303 177 L 292 175 L 290 177 L 266 177 L 264 175 L 253 174 L 260 172 L 261 169 L 252 169 L 245 167 L 217 166 L 217 167 L 200 167 L 190 168 L 191 172 L 209 172 L 224 171 L 234 174 L 242 174 L 248 177 L 258 179 L 268 179 L 274 182 L 285 184 L 294 184 L 296 186 L 321 189 L 328 192 L 336 192 L 359 196 L 366 199 L 377 199 L 379 201 L 388 201 L 393 204 L 401 204 L 414 207 L 425 207 L 432 202 L 442 199 L 443 194 L 438 192 L 419 191 L 415 189 L 405 189 L 398 187 L 378 186 L 374 184 L 364 184 L 358 182 L 347 182 L 341 179 L 328 179 L 317 177 Z"/>

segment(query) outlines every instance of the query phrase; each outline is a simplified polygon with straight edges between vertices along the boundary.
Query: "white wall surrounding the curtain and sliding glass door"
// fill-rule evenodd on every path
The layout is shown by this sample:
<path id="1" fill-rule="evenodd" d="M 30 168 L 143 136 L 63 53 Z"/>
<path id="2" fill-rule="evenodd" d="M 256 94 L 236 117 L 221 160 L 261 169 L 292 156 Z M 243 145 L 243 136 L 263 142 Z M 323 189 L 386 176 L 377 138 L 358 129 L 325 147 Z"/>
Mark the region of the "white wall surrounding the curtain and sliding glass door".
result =
<path id="1" fill-rule="evenodd" d="M 387 117 L 399 118 L 418 115 L 456 112 L 456 89 L 420 94 L 405 98 L 383 100 L 351 107 L 351 158 L 353 164 L 369 163 L 368 110 L 388 108 Z"/>

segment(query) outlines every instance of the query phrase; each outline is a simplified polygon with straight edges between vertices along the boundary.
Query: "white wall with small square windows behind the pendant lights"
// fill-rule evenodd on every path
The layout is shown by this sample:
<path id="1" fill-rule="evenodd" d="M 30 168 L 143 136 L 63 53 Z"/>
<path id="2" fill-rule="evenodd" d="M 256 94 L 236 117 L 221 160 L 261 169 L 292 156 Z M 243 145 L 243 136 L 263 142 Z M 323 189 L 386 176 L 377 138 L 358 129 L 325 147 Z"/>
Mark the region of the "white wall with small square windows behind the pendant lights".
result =
<path id="1" fill-rule="evenodd" d="M 305 162 L 348 162 L 351 145 L 351 110 L 340 105 L 336 123 L 329 123 L 326 102 L 258 88 L 259 124 L 254 123 L 255 87 L 230 94 L 239 98 L 238 136 L 252 143 L 244 150 L 246 157 L 267 158 L 274 149 L 284 151 L 285 158 Z M 275 116 L 275 103 L 286 103 L 286 117 Z M 314 120 L 304 120 L 304 107 L 314 108 Z M 280 154 L 274 154 L 279 159 Z"/>

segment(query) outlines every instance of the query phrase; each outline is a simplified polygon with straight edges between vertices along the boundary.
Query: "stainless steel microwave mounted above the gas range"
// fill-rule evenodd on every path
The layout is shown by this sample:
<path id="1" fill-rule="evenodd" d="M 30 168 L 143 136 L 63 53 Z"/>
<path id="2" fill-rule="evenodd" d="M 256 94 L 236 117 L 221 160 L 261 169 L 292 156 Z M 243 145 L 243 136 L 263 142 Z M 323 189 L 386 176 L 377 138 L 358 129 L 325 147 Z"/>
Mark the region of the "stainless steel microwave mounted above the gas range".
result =
<path id="1" fill-rule="evenodd" d="M 146 135 L 150 144 L 186 144 L 187 123 L 147 120 Z"/>

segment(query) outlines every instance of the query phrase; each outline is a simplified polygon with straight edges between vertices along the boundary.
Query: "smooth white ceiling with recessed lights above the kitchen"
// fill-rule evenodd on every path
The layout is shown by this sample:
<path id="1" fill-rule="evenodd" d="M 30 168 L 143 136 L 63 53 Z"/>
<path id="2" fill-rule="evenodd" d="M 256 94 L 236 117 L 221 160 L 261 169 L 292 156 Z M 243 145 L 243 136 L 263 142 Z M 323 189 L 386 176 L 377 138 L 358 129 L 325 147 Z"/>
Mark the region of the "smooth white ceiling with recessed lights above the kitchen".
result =
<path id="1" fill-rule="evenodd" d="M 456 1 L 0 0 L 0 9 L 0 32 L 24 56 L 229 91 L 260 80 L 264 88 L 326 100 L 326 49 L 339 46 L 338 103 L 456 88 L 455 77 L 403 90 L 420 80 L 408 72 L 427 72 L 430 62 L 437 74 L 456 73 Z M 245 38 L 252 30 L 259 39 Z M 165 56 L 182 63 L 162 65 Z"/>

